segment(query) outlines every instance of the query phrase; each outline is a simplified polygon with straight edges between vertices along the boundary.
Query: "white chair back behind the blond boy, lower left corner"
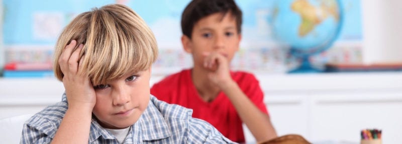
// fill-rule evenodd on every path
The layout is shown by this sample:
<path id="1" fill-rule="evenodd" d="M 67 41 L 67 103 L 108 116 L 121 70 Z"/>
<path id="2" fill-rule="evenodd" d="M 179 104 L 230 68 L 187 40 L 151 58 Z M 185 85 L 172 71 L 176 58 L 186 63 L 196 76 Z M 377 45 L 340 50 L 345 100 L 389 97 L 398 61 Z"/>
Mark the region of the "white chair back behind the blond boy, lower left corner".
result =
<path id="1" fill-rule="evenodd" d="M 20 143 L 24 122 L 34 114 L 24 114 L 0 119 L 0 143 Z"/>

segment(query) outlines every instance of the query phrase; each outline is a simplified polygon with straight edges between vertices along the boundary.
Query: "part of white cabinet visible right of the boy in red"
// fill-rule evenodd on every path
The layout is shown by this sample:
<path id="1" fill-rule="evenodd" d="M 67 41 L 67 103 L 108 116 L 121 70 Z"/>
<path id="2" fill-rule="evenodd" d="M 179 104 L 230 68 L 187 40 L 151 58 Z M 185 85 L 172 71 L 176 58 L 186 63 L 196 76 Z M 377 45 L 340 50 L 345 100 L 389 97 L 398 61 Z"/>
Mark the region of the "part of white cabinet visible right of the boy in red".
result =
<path id="1" fill-rule="evenodd" d="M 361 129 L 379 128 L 383 143 L 402 143 L 402 73 L 257 77 L 279 135 L 359 143 Z"/>

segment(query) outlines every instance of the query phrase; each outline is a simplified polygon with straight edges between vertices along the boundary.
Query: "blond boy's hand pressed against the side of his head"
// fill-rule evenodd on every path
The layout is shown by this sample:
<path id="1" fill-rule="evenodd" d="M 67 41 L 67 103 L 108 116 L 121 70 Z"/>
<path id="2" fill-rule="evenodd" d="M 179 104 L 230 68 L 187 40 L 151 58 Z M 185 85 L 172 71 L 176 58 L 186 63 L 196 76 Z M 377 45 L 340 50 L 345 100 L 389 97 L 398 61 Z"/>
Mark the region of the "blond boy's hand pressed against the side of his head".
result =
<path id="1" fill-rule="evenodd" d="M 58 61 L 64 75 L 63 85 L 66 90 L 68 107 L 86 107 L 87 109 L 85 110 L 92 111 L 96 102 L 96 95 L 88 76 L 81 72 L 83 70 L 78 70 L 82 63 L 79 54 L 83 48 L 83 44 L 80 44 L 78 48 L 74 50 L 76 45 L 77 42 L 72 40 L 70 44 L 65 47 Z"/>

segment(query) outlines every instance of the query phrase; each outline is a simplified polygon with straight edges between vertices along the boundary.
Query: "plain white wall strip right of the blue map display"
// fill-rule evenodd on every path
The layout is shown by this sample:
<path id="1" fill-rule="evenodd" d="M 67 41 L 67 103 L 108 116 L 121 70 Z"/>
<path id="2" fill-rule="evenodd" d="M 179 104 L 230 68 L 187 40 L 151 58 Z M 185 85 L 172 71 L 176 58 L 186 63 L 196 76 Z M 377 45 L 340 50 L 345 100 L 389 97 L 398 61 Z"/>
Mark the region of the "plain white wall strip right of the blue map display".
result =
<path id="1" fill-rule="evenodd" d="M 361 0 L 363 62 L 402 62 L 402 1 Z"/>

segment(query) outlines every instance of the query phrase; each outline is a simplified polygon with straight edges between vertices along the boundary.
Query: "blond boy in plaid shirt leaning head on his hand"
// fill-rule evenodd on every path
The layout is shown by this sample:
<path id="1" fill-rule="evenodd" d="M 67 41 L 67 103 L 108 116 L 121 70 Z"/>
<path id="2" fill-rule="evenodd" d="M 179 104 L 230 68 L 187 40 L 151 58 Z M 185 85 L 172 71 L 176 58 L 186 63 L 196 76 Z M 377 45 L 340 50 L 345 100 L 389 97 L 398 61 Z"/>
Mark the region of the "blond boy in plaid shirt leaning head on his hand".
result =
<path id="1" fill-rule="evenodd" d="M 31 117 L 21 143 L 232 143 L 192 111 L 150 95 L 156 40 L 123 5 L 78 15 L 61 33 L 62 101 Z"/>

